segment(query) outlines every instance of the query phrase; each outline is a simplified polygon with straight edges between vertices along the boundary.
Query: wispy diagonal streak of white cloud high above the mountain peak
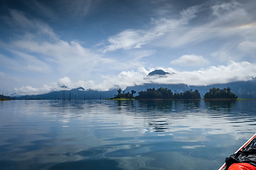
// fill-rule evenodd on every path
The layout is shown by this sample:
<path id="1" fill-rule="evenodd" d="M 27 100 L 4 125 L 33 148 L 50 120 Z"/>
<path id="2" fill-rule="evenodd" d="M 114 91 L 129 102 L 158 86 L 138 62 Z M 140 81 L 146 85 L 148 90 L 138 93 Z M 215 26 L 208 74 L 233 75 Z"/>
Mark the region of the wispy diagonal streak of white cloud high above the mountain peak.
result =
<path id="1" fill-rule="evenodd" d="M 110 45 L 107 45 L 103 53 L 114 51 L 118 49 L 129 50 L 132 48 L 141 48 L 153 40 L 161 38 L 167 32 L 186 25 L 188 21 L 196 17 L 196 13 L 201 11 L 201 6 L 192 6 L 186 10 L 181 11 L 180 19 L 166 19 L 152 20 L 153 26 L 149 30 L 133 30 L 127 29 L 118 33 L 117 35 L 108 38 Z"/>

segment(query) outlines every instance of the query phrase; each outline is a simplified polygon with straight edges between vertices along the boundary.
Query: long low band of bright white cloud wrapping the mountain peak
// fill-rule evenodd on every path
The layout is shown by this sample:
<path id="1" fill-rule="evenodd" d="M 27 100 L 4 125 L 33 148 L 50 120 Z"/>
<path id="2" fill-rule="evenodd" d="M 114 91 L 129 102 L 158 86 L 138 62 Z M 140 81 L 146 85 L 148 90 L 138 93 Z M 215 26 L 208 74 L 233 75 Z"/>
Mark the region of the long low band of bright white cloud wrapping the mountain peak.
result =
<path id="1" fill-rule="evenodd" d="M 99 91 L 108 91 L 110 89 L 126 89 L 128 86 L 137 86 L 142 84 L 188 84 L 194 86 L 204 86 L 210 84 L 225 84 L 233 81 L 247 81 L 256 76 L 256 64 L 250 62 L 230 62 L 228 65 L 220 65 L 218 67 L 208 67 L 193 72 L 178 72 L 172 68 L 157 67 L 165 72 L 176 72 L 166 77 L 153 77 L 145 79 L 149 72 L 154 69 L 146 70 L 144 67 L 137 71 L 121 72 L 114 77 L 102 77 L 105 81 L 101 84 L 95 84 L 95 81 L 77 81 L 73 82 L 70 78 L 64 77 L 57 82 L 44 85 L 41 88 L 33 88 L 31 86 L 23 86 L 16 88 L 17 94 L 43 94 L 50 91 L 63 90 L 60 86 L 68 86 L 68 89 L 74 89 L 82 86 L 85 89 L 93 89 Z"/>

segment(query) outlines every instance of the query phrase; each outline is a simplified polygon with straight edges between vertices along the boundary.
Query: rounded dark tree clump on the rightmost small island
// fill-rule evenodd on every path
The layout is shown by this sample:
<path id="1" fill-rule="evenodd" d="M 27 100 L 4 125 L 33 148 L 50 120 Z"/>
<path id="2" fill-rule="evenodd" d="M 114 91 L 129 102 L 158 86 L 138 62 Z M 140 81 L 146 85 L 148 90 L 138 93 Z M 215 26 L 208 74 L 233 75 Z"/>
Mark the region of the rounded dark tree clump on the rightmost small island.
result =
<path id="1" fill-rule="evenodd" d="M 213 89 L 210 89 L 210 91 L 204 95 L 205 100 L 215 100 L 215 99 L 236 100 L 237 98 L 238 96 L 236 96 L 231 92 L 230 87 L 228 87 L 227 89 L 225 88 L 216 89 L 215 87 L 213 87 Z"/>

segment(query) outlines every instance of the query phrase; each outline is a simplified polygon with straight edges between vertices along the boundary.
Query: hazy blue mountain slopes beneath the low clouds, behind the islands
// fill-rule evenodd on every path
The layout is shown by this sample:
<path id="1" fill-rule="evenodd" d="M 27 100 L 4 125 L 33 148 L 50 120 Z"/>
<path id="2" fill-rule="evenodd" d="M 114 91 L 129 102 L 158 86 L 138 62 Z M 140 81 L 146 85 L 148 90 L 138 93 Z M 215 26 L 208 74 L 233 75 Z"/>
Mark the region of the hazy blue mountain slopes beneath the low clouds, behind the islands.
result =
<path id="1" fill-rule="evenodd" d="M 224 89 L 230 87 L 231 91 L 238 96 L 238 98 L 254 98 L 256 99 L 256 79 L 252 79 L 250 81 L 236 81 L 228 84 L 213 84 L 208 86 L 188 86 L 187 84 L 144 84 L 141 86 L 131 86 L 127 87 L 124 91 L 127 93 L 128 91 L 131 92 L 132 90 L 137 91 L 134 96 L 138 95 L 139 91 L 146 91 L 146 89 L 159 89 L 160 87 L 171 89 L 173 93 L 177 91 L 178 93 L 196 89 L 203 95 L 206 94 L 209 89 L 220 88 Z M 16 96 L 16 99 L 45 99 L 45 100 L 68 100 L 71 98 L 79 99 L 79 100 L 87 100 L 87 99 L 105 99 L 105 98 L 112 98 L 114 95 L 117 95 L 117 89 L 112 89 L 110 91 L 94 91 L 94 90 L 85 90 L 82 87 L 77 89 L 68 90 L 64 88 L 63 91 L 53 91 L 48 94 L 39 94 L 39 95 L 26 95 L 26 96 Z"/>

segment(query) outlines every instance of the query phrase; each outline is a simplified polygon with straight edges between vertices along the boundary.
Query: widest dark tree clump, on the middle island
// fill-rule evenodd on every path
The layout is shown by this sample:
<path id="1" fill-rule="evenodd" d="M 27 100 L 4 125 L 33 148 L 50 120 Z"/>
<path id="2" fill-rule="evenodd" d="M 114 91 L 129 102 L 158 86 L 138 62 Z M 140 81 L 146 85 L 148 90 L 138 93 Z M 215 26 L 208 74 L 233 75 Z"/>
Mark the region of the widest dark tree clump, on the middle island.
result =
<path id="1" fill-rule="evenodd" d="M 167 88 L 160 87 L 159 89 L 146 89 L 146 91 L 139 91 L 139 96 L 135 99 L 201 99 L 198 90 L 195 91 L 185 91 L 184 93 L 178 94 L 178 92 L 173 92 Z"/>

